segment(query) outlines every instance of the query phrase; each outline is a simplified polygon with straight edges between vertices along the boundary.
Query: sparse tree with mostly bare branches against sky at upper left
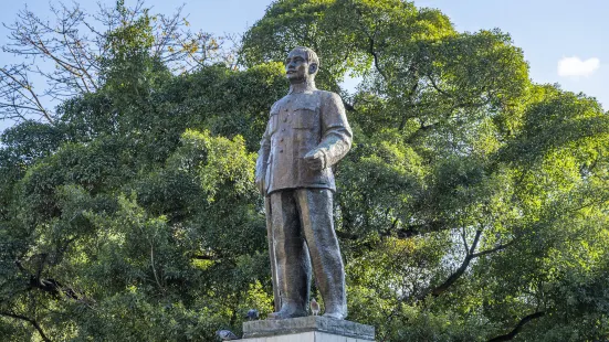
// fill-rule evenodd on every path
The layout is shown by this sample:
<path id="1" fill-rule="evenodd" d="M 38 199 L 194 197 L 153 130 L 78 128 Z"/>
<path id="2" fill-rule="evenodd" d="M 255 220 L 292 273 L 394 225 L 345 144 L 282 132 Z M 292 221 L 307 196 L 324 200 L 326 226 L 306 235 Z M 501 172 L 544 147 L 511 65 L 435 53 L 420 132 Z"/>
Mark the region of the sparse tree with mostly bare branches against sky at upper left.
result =
<path id="1" fill-rule="evenodd" d="M 85 13 L 77 3 L 50 9 L 55 22 L 25 7 L 17 21 L 7 25 L 10 43 L 2 51 L 24 62 L 0 67 L 0 119 L 53 124 L 55 113 L 50 106 L 93 94 L 103 86 L 112 73 L 109 56 L 115 62 L 126 58 L 132 65 L 141 62 L 134 55 L 136 45 L 128 42 L 134 38 L 147 40 L 138 45 L 140 52 L 145 50 L 172 72 L 183 73 L 208 63 L 234 63 L 231 50 L 223 46 L 233 38 L 190 31 L 182 8 L 172 15 L 151 15 L 143 0 L 133 8 L 118 0 L 115 8 L 99 3 L 97 13 Z M 114 72 L 119 68 L 116 63 L 113 67 Z"/>

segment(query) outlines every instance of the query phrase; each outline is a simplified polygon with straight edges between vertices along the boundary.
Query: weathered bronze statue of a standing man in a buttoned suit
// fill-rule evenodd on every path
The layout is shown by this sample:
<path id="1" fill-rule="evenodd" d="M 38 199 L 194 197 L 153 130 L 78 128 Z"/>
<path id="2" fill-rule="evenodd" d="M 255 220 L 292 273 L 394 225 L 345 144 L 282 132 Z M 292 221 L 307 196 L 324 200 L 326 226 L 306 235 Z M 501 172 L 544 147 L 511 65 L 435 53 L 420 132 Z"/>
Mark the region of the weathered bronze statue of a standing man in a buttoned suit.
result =
<path id="1" fill-rule="evenodd" d="M 306 316 L 312 266 L 324 316 L 347 316 L 345 269 L 334 232 L 332 165 L 349 151 L 353 133 L 340 97 L 315 87 L 318 67 L 311 49 L 296 47 L 287 55 L 290 93 L 271 108 L 256 161 L 275 295 L 271 319 Z"/>

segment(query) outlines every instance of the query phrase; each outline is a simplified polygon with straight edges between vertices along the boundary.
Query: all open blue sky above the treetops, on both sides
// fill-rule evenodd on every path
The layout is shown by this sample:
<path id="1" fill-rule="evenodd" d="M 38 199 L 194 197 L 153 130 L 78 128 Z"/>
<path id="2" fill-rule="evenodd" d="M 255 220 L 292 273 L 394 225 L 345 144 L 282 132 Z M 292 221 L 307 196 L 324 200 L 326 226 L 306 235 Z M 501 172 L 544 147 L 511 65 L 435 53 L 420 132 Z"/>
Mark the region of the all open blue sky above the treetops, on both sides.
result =
<path id="1" fill-rule="evenodd" d="M 49 18 L 49 0 L 3 1 L 0 22 L 14 22 L 28 6 Z M 70 2 L 66 0 L 65 2 Z M 97 0 L 77 1 L 94 11 Z M 115 0 L 99 0 L 113 6 Z M 135 0 L 126 0 L 127 6 Z M 222 35 L 243 33 L 264 15 L 271 0 L 146 0 L 153 13 L 174 13 L 181 3 L 191 28 Z M 609 0 L 416 0 L 418 7 L 440 9 L 458 31 L 498 28 L 512 35 L 524 51 L 529 75 L 536 83 L 560 84 L 561 88 L 596 97 L 609 109 Z M 0 26 L 0 45 L 8 43 Z M 0 52 L 0 65 L 14 57 Z M 0 121 L 0 130 L 10 122 Z"/>

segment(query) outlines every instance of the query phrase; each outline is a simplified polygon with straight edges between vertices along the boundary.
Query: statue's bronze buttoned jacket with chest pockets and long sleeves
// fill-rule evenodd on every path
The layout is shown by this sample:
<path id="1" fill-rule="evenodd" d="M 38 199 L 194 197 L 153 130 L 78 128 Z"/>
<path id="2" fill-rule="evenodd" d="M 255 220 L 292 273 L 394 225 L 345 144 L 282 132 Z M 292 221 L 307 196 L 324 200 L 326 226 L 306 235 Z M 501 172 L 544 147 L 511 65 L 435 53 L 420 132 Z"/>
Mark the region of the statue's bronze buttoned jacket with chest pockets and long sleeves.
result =
<path id="1" fill-rule="evenodd" d="M 271 108 L 256 160 L 256 179 L 266 195 L 297 188 L 336 191 L 332 165 L 351 147 L 353 132 L 340 97 L 314 89 L 288 94 Z M 322 170 L 308 168 L 304 157 L 322 151 Z"/>

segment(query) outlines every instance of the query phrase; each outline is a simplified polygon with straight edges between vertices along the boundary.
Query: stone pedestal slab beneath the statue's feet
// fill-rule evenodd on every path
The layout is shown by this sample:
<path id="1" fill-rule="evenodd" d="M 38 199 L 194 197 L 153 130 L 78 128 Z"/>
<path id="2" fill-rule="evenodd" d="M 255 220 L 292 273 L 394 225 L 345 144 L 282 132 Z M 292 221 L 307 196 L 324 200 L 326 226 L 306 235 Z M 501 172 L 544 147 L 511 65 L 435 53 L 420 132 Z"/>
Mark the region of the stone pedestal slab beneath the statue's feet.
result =
<path id="1" fill-rule="evenodd" d="M 244 342 L 369 342 L 375 327 L 321 316 L 243 323 Z"/>

